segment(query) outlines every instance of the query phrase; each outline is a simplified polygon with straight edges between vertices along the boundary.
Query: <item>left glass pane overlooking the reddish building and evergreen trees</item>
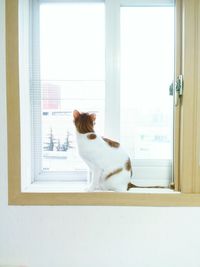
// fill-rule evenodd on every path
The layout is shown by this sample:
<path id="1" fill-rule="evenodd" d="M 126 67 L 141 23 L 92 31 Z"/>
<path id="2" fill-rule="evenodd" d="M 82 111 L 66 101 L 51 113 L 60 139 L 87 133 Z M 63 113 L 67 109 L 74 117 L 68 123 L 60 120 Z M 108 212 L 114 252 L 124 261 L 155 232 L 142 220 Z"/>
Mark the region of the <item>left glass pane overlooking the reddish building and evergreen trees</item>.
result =
<path id="1" fill-rule="evenodd" d="M 104 124 L 104 4 L 40 5 L 42 170 L 80 171 L 72 111 Z"/>

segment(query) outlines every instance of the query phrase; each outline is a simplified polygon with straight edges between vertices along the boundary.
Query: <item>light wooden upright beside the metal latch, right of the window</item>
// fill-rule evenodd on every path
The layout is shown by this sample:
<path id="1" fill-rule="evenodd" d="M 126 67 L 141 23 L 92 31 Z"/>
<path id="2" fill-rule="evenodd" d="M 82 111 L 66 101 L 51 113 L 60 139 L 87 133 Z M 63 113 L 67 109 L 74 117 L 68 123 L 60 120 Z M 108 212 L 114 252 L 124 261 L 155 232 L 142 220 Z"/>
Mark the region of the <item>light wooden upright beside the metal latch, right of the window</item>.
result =
<path id="1" fill-rule="evenodd" d="M 198 0 L 182 0 L 182 72 L 184 91 L 181 99 L 180 177 L 181 192 L 200 193 L 199 173 L 199 25 Z"/>

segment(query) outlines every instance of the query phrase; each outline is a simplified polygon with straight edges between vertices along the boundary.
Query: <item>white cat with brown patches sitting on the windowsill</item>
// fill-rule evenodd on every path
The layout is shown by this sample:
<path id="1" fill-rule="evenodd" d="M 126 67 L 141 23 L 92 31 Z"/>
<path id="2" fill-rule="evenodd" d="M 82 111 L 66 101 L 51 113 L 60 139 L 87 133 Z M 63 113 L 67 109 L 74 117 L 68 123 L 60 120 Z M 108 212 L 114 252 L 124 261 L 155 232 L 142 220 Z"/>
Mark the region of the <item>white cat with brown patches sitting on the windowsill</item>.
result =
<path id="1" fill-rule="evenodd" d="M 120 144 L 95 133 L 96 115 L 74 110 L 73 117 L 79 155 L 92 171 L 88 191 L 124 192 L 130 188 L 140 187 L 131 182 L 131 161 Z M 151 188 L 160 187 L 153 186 Z"/>

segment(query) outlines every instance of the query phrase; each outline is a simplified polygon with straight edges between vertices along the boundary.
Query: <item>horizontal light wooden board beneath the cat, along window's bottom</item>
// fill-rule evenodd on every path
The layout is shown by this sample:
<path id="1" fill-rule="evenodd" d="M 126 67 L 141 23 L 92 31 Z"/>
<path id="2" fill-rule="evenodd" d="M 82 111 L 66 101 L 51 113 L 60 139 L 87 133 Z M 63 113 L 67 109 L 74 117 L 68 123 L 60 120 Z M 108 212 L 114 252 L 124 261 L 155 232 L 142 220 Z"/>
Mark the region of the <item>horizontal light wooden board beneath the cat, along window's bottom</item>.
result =
<path id="1" fill-rule="evenodd" d="M 19 193 L 9 205 L 200 207 L 200 194 L 144 193 Z"/>

